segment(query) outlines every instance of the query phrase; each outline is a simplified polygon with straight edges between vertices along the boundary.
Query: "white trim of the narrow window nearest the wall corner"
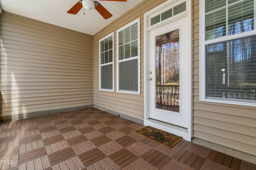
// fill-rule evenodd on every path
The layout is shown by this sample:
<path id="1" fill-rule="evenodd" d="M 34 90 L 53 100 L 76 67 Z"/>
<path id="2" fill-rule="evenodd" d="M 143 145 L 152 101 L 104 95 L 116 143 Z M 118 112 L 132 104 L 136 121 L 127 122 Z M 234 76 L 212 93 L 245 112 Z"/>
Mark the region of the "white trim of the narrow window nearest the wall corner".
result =
<path id="1" fill-rule="evenodd" d="M 112 36 L 112 62 L 110 63 L 105 63 L 105 64 L 101 64 L 100 61 L 100 42 L 103 41 L 104 39 L 107 39 L 109 37 Z M 106 89 L 106 88 L 101 88 L 101 66 L 104 66 L 104 65 L 108 65 L 108 64 L 112 64 L 112 72 L 113 72 L 113 77 L 112 77 L 112 89 Z M 107 35 L 106 37 L 103 37 L 102 39 L 99 40 L 99 90 L 100 91 L 109 91 L 109 92 L 114 92 L 114 32 L 110 33 L 109 35 Z"/>

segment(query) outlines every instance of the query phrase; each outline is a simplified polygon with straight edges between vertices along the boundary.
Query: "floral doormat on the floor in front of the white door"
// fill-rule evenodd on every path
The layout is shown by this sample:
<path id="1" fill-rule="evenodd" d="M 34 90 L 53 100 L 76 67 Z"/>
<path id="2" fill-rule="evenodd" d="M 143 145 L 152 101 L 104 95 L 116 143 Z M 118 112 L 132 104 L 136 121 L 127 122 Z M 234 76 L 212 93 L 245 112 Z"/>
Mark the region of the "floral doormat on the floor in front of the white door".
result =
<path id="1" fill-rule="evenodd" d="M 150 126 L 143 127 L 142 129 L 135 131 L 135 133 L 169 148 L 173 147 L 182 139 L 182 137 Z"/>

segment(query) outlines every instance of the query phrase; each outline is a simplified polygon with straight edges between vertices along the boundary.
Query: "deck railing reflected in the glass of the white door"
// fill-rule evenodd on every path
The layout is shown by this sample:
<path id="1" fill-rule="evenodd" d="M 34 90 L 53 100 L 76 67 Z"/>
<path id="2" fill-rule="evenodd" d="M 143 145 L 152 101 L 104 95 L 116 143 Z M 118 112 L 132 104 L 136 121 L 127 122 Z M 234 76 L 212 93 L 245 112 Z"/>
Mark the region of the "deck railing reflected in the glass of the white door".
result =
<path id="1" fill-rule="evenodd" d="M 179 85 L 156 85 L 156 103 L 180 106 Z"/>

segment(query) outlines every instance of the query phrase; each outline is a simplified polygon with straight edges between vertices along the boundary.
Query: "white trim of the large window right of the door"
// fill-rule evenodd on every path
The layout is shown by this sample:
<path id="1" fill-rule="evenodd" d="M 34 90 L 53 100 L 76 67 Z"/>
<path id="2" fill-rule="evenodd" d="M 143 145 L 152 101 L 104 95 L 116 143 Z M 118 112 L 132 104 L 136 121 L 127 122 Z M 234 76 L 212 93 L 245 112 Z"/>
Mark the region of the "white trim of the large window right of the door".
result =
<path id="1" fill-rule="evenodd" d="M 252 102 L 242 102 L 242 101 L 231 101 L 231 100 L 218 100 L 218 99 L 209 99 L 206 98 L 206 58 L 205 58 L 205 45 L 217 43 L 221 41 L 228 41 L 230 39 L 240 38 L 244 36 L 255 35 L 256 30 L 243 32 L 239 34 L 224 36 L 216 39 L 211 39 L 205 41 L 205 0 L 199 1 L 199 11 L 200 11 L 200 21 L 199 21 L 199 101 L 202 102 L 213 102 L 213 103 L 221 103 L 221 104 L 234 104 L 234 105 L 242 105 L 242 106 L 254 106 L 256 107 L 256 103 Z M 256 11 L 256 1 L 254 1 L 254 15 Z M 254 22 L 256 21 L 256 15 L 254 16 Z M 256 22 L 255 22 L 256 23 Z"/>

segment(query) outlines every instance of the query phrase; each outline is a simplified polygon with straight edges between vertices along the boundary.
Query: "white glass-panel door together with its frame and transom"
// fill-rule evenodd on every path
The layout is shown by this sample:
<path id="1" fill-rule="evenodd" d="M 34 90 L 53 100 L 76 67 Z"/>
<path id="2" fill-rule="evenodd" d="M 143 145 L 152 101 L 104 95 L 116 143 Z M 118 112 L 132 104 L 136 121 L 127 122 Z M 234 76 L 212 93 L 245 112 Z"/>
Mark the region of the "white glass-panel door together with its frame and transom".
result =
<path id="1" fill-rule="evenodd" d="M 191 141 L 191 1 L 144 14 L 144 125 Z"/>

